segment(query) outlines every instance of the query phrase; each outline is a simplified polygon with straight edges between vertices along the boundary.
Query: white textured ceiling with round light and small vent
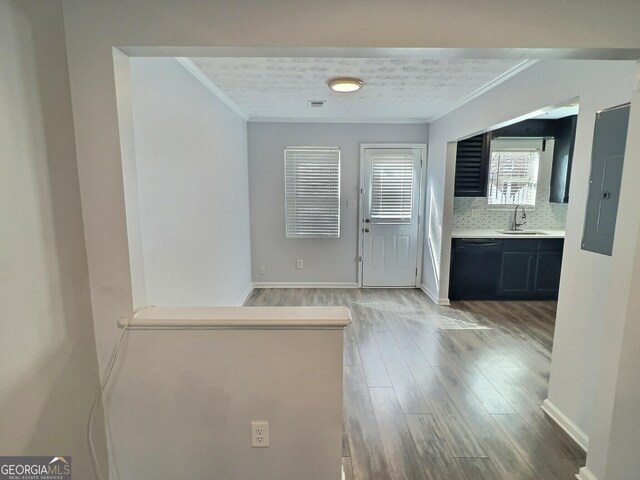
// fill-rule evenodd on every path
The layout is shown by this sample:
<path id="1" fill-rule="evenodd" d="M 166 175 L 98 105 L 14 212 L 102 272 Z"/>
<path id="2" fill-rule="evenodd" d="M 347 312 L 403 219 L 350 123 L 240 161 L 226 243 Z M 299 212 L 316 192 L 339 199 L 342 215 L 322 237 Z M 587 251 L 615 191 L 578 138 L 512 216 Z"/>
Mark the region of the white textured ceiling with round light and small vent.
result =
<path id="1" fill-rule="evenodd" d="M 431 119 L 521 64 L 518 60 L 415 58 L 191 58 L 245 114 L 259 119 Z M 334 77 L 355 76 L 356 93 Z M 310 100 L 326 100 L 313 108 Z"/>

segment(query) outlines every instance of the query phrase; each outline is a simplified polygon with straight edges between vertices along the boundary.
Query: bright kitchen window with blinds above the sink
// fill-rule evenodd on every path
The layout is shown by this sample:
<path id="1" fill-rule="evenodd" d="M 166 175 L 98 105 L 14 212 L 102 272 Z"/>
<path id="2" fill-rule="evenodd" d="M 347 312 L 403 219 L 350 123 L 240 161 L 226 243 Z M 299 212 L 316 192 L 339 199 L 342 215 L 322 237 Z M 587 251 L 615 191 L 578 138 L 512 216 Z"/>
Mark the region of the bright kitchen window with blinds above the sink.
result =
<path id="1" fill-rule="evenodd" d="M 491 142 L 489 205 L 536 204 L 542 139 L 496 139 Z"/>

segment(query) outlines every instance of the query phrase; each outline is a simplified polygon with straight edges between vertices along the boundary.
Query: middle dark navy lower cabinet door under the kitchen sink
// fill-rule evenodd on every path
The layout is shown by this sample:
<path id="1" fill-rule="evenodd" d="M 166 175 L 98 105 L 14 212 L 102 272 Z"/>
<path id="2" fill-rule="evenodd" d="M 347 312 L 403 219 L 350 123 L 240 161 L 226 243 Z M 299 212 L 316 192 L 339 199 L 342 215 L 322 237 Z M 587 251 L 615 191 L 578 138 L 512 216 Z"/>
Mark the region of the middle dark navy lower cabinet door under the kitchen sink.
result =
<path id="1" fill-rule="evenodd" d="M 535 252 L 504 252 L 500 268 L 498 295 L 503 298 L 533 296 Z"/>

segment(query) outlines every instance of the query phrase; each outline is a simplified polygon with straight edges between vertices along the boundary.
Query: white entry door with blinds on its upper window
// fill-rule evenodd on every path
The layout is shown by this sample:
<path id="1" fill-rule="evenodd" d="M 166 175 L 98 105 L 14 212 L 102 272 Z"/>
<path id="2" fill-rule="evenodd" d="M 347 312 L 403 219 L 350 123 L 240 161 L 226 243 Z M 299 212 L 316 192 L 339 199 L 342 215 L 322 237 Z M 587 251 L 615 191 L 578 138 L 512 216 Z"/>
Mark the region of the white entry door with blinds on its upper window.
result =
<path id="1" fill-rule="evenodd" d="M 365 148 L 362 286 L 413 287 L 418 259 L 419 148 Z"/>

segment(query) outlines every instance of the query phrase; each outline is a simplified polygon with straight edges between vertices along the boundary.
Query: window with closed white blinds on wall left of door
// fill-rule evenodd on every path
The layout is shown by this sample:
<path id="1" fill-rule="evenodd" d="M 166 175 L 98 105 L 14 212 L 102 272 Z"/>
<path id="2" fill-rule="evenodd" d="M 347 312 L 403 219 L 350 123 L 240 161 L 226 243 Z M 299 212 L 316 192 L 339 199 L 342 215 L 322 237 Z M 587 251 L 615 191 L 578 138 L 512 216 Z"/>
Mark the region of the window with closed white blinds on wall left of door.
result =
<path id="1" fill-rule="evenodd" d="M 287 238 L 340 237 L 340 150 L 284 151 Z"/>

